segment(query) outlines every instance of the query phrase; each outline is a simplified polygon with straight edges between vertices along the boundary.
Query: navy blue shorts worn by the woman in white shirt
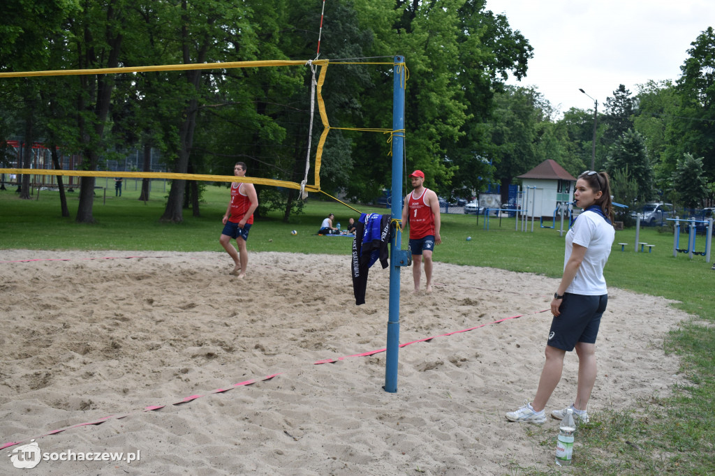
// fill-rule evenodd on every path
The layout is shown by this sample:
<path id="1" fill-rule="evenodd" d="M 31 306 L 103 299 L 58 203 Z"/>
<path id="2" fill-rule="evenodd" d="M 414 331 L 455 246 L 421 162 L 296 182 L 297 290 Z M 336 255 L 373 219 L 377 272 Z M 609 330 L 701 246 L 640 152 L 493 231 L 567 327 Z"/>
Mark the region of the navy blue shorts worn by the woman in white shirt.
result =
<path id="1" fill-rule="evenodd" d="M 558 308 L 561 314 L 551 321 L 546 343 L 566 352 L 571 352 L 577 342 L 596 344 L 598 326 L 601 325 L 606 304 L 608 294 L 584 296 L 567 292 Z"/>

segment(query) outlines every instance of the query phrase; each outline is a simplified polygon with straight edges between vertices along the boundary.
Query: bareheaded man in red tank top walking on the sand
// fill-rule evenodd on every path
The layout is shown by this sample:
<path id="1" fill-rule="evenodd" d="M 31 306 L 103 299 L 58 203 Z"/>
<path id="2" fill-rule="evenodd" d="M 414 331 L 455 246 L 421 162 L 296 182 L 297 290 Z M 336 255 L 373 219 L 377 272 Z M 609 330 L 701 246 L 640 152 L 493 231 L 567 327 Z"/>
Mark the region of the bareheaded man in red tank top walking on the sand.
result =
<path id="1" fill-rule="evenodd" d="M 233 174 L 236 177 L 245 177 L 246 172 L 246 164 L 236 162 L 233 167 Z M 253 212 L 257 208 L 258 196 L 253 184 L 232 182 L 231 201 L 223 216 L 224 229 L 221 232 L 219 242 L 234 262 L 234 268 L 229 274 L 240 279 L 246 277 L 246 268 L 248 266 L 246 240 L 253 224 Z M 236 240 L 238 251 L 231 244 L 231 239 Z"/>

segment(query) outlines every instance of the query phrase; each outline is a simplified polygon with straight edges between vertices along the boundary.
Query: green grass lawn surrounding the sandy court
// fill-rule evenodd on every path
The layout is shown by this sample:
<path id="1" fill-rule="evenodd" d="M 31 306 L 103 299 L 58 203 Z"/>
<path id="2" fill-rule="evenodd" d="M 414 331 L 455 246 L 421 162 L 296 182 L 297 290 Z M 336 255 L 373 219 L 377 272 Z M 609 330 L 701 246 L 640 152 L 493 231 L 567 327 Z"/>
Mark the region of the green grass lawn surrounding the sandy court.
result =
<path id="1" fill-rule="evenodd" d="M 102 185 L 101 180 L 98 185 Z M 77 192 L 68 194 L 71 217 L 60 217 L 59 193 L 36 191 L 30 200 L 20 200 L 14 189 L 0 192 L 1 249 L 115 249 L 146 251 L 222 251 L 218 238 L 221 217 L 229 192 L 209 186 L 204 192 L 201 216 L 184 211 L 184 222 L 159 222 L 167 190 L 154 183 L 152 199 L 139 202 L 139 187 L 125 180 L 122 197 L 114 197 L 112 184 L 97 191 L 94 202 L 96 224 L 77 224 Z M 360 212 L 386 209 L 353 205 Z M 343 227 L 358 213 L 335 203 L 310 199 L 304 212 L 282 221 L 281 212 L 257 219 L 251 229 L 249 249 L 293 253 L 350 254 L 352 240 L 317 237 L 320 222 L 328 213 Z M 485 229 L 483 217 L 443 214 L 443 244 L 435 260 L 471 266 L 495 267 L 515 272 L 533 272 L 561 277 L 563 237 L 555 229 L 542 229 L 538 222 L 531 232 L 515 231 L 514 219 L 491 218 Z M 557 224 L 558 227 L 558 224 Z M 297 230 L 293 236 L 290 231 Z M 467 241 L 467 237 L 472 237 Z M 611 287 L 663 296 L 679 301 L 676 307 L 694 314 L 694 322 L 674 329 L 664 352 L 681 355 L 684 372 L 693 385 L 675 389 L 674 396 L 654 396 L 638 407 L 623 412 L 605 412 L 579 430 L 582 455 L 569 471 L 580 474 L 656 474 L 672 472 L 707 475 L 715 472 L 715 271 L 698 256 L 673 257 L 673 234 L 669 230 L 641 229 L 640 241 L 654 244 L 651 253 L 634 252 L 635 230 L 616 232 L 616 243 L 627 242 L 626 251 L 614 244 L 606 266 Z M 403 242 L 406 242 L 403 237 Z M 681 247 L 687 234 L 681 238 Z M 704 251 L 705 239 L 696 240 L 696 251 Z M 1 251 L 0 251 L 1 254 Z M 713 254 L 715 259 L 715 253 Z M 539 444 L 552 445 L 553 435 L 528 428 Z M 631 442 L 631 444 L 626 443 Z M 515 472 L 537 474 L 530 468 Z"/>

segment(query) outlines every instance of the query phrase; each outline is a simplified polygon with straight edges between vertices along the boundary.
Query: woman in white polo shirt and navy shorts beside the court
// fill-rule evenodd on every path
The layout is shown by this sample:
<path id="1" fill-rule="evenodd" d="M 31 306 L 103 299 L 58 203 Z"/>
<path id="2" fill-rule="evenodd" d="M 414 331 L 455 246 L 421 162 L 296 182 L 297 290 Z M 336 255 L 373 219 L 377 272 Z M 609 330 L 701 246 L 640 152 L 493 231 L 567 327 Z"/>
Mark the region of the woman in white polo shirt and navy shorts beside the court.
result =
<path id="1" fill-rule="evenodd" d="M 571 408 L 574 419 L 588 422 L 586 407 L 596 382 L 596 336 L 608 303 L 603 267 L 616 234 L 608 174 L 583 172 L 576 180 L 573 197 L 583 212 L 566 234 L 563 277 L 551 301 L 553 320 L 546 344 L 546 363 L 533 401 L 506 413 L 507 420 L 512 422 L 546 422 L 544 408 L 561 380 L 563 357 L 574 347 L 578 355 L 578 386 Z M 568 407 L 553 410 L 551 416 L 561 420 L 566 410 Z"/>

